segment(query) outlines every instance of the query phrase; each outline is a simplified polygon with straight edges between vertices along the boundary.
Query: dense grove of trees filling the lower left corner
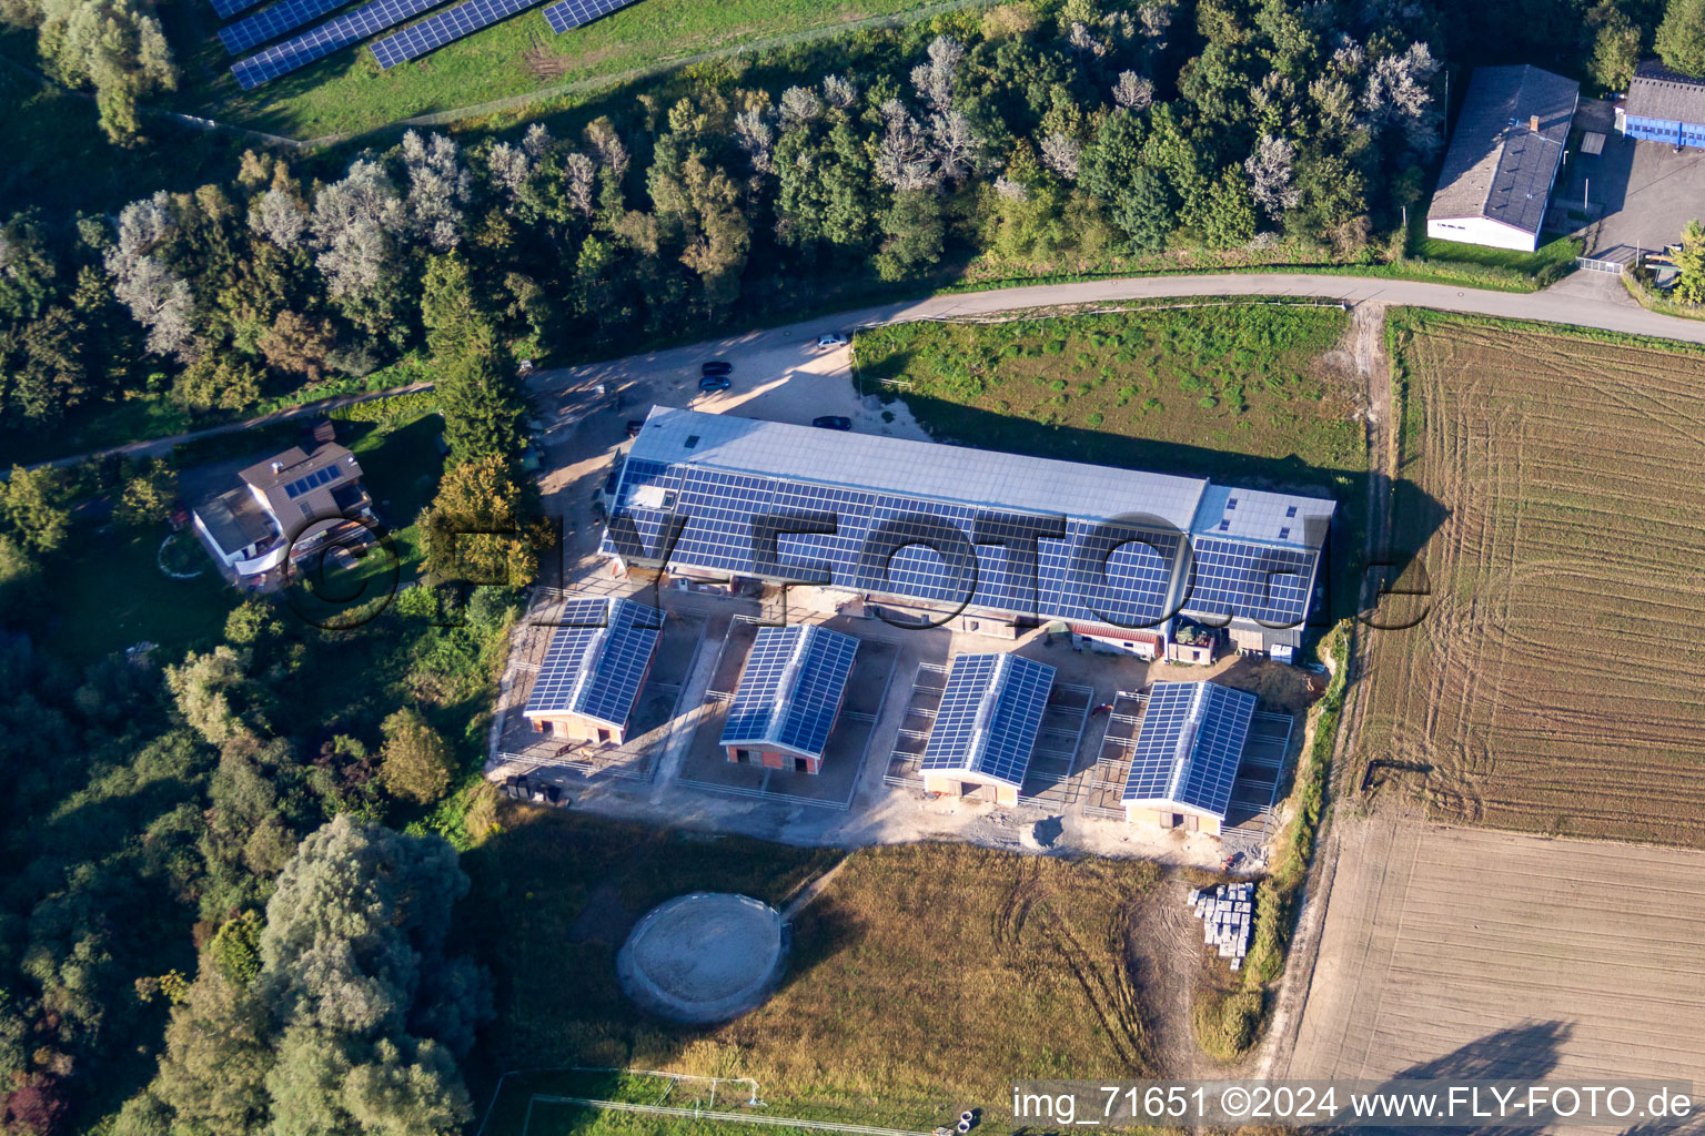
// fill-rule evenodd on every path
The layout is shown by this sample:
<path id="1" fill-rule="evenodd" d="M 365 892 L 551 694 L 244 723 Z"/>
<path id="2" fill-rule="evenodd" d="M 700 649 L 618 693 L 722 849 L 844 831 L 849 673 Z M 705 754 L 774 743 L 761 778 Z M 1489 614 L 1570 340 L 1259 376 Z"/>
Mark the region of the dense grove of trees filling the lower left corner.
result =
<path id="1" fill-rule="evenodd" d="M 510 606 L 433 605 L 406 593 L 351 640 L 247 601 L 164 668 L 70 668 L 0 632 L 0 1131 L 116 1112 L 148 1081 L 138 1051 L 159 1068 L 118 1136 L 467 1119 L 489 986 L 443 952 L 465 879 L 440 836 L 382 824 L 443 807 L 445 707 L 483 703 Z M 360 690 L 317 681 L 351 651 Z M 399 669 L 401 691 L 379 681 Z"/>

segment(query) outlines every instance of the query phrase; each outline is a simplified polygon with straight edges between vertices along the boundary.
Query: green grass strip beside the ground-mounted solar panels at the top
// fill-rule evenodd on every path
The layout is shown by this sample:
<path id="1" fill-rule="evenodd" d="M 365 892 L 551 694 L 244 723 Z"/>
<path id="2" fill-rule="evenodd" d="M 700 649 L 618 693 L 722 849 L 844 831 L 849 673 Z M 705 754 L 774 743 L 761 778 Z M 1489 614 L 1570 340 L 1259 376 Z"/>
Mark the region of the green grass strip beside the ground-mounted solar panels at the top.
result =
<path id="1" fill-rule="evenodd" d="M 939 0 L 933 0 L 939 3 Z M 348 48 L 244 92 L 227 70 L 205 3 L 172 5 L 169 37 L 184 66 L 182 109 L 293 138 L 373 129 L 404 118 L 525 95 L 588 78 L 621 77 L 692 56 L 834 29 L 926 7 L 931 0 L 641 0 L 563 36 L 542 7 L 459 39 L 425 60 L 380 72 L 365 48 Z M 351 5 L 353 7 L 353 5 Z M 525 55 L 552 60 L 534 75 Z"/>

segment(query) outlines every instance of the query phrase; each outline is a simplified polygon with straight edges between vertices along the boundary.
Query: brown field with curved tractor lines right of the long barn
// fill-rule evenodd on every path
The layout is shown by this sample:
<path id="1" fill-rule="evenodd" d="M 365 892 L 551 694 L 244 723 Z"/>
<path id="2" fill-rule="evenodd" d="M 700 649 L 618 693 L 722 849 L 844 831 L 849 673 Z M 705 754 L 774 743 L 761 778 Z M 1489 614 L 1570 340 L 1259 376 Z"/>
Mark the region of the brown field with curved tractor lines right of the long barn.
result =
<path id="1" fill-rule="evenodd" d="M 1705 845 L 1705 356 L 1405 324 L 1395 531 L 1430 610 L 1373 634 L 1352 772 L 1441 819 Z"/>

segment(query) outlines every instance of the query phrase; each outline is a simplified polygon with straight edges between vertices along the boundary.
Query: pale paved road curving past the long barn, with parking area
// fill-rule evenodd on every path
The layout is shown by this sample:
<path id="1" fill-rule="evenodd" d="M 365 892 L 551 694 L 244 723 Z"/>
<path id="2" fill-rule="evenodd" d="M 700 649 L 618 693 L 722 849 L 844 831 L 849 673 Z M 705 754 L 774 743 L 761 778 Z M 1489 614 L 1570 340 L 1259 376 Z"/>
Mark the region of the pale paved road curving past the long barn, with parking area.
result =
<path id="1" fill-rule="evenodd" d="M 1074 284 L 1033 284 L 1028 288 L 1003 288 L 994 291 L 970 291 L 958 295 L 929 296 L 905 303 L 890 303 L 873 308 L 842 312 L 824 318 L 813 318 L 767 330 L 743 332 L 721 339 L 709 339 L 687 347 L 668 351 L 650 351 L 604 363 L 559 368 L 542 371 L 534 378 L 535 390 L 546 397 L 585 392 L 593 383 L 607 383 L 612 392 L 627 388 L 627 410 L 643 416 L 650 405 L 646 397 L 677 405 L 696 405 L 706 410 L 731 410 L 742 407 L 779 421 L 810 421 L 818 414 L 849 414 L 858 417 L 858 400 L 852 397 L 849 383 L 808 383 L 800 390 L 788 390 L 796 375 L 815 375 L 820 378 L 841 378 L 846 375 L 846 351 L 818 356 L 812 346 L 817 336 L 829 329 L 849 330 L 854 327 L 875 327 L 881 324 L 905 324 L 914 320 L 948 320 L 996 312 L 1014 312 L 1025 308 L 1047 308 L 1084 303 L 1108 303 L 1118 300 L 1159 300 L 1178 296 L 1309 296 L 1320 300 L 1342 300 L 1345 303 L 1378 301 L 1384 305 L 1405 305 L 1417 308 L 1437 308 L 1442 312 L 1468 312 L 1477 315 L 1495 315 L 1519 320 L 1538 320 L 1546 324 L 1574 324 L 1603 330 L 1628 332 L 1637 336 L 1657 336 L 1686 342 L 1705 344 L 1705 320 L 1686 320 L 1673 315 L 1647 312 L 1633 303 L 1615 276 L 1599 273 L 1575 273 L 1560 284 L 1536 293 L 1483 291 L 1477 288 L 1458 288 L 1454 284 L 1427 284 L 1419 281 L 1369 279 L 1364 276 L 1313 276 L 1306 273 L 1224 273 L 1212 276 L 1142 276 L 1129 279 L 1096 279 Z M 692 380 L 697 378 L 697 363 L 713 356 L 737 358 L 735 390 L 725 395 L 699 395 Z M 641 382 L 643 380 L 643 382 Z M 641 383 L 634 387 L 634 383 Z M 416 383 L 404 390 L 425 390 L 428 383 Z M 361 395 L 373 399 L 379 395 Z M 355 402 L 358 399 L 334 399 L 321 404 L 293 407 L 288 412 L 271 414 L 244 422 L 213 426 L 193 434 L 176 438 L 157 438 L 150 441 L 130 443 L 113 450 L 80 453 L 56 458 L 49 465 L 70 465 L 90 456 L 107 453 L 159 455 L 172 445 L 191 438 L 222 434 L 234 429 L 273 422 L 281 417 L 307 417 L 322 414 L 334 405 Z M 621 409 L 621 407 L 617 407 Z M 859 429 L 871 424 L 859 422 Z M 902 416 L 897 422 L 885 422 L 883 433 L 916 436 L 916 426 Z"/>

